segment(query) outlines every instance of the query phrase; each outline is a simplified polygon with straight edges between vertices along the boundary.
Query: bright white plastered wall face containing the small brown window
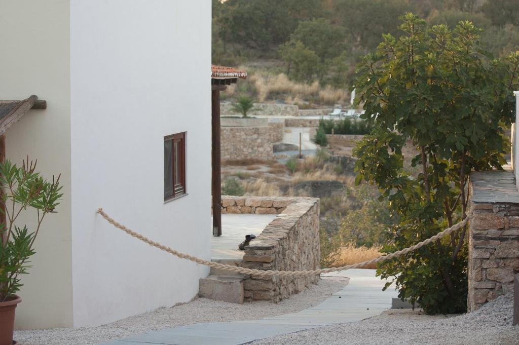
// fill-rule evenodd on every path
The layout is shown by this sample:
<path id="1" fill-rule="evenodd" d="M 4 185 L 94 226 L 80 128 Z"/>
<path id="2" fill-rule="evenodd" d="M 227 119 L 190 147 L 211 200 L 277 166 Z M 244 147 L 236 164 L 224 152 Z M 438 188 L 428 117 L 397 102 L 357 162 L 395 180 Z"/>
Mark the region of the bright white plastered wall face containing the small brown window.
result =
<path id="1" fill-rule="evenodd" d="M 74 326 L 186 302 L 208 269 L 107 224 L 104 210 L 210 258 L 211 5 L 71 1 Z M 163 137 L 187 131 L 187 192 L 163 202 Z"/>

